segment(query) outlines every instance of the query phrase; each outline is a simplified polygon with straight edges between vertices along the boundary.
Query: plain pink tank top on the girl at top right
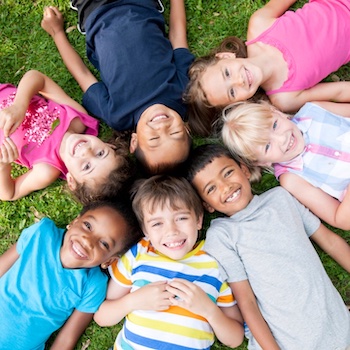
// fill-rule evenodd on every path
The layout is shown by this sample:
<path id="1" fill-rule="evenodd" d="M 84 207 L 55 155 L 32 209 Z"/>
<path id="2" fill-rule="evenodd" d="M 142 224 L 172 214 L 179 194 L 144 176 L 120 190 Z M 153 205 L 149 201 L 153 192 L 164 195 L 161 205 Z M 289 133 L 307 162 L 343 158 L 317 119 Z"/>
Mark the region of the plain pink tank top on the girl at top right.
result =
<path id="1" fill-rule="evenodd" d="M 308 89 L 350 61 L 350 1 L 310 0 L 287 11 L 246 45 L 276 47 L 288 64 L 288 78 L 278 92 Z"/>

